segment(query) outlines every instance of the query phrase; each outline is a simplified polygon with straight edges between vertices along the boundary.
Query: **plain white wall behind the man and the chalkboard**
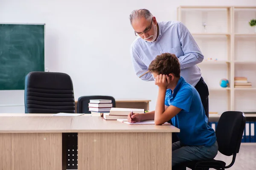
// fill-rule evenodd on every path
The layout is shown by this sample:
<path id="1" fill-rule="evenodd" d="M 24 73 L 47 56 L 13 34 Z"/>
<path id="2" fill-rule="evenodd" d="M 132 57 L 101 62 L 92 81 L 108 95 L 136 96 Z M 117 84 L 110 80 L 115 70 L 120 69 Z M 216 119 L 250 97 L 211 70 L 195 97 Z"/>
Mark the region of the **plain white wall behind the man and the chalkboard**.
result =
<path id="1" fill-rule="evenodd" d="M 176 20 L 180 5 L 256 6 L 256 0 L 0 0 L 0 23 L 45 23 L 45 66 L 71 76 L 76 99 L 151 99 L 154 110 L 157 87 L 132 68 L 135 35 L 128 17 L 148 8 L 157 20 Z M 0 113 L 23 113 L 23 103 L 24 91 L 0 91 Z"/>

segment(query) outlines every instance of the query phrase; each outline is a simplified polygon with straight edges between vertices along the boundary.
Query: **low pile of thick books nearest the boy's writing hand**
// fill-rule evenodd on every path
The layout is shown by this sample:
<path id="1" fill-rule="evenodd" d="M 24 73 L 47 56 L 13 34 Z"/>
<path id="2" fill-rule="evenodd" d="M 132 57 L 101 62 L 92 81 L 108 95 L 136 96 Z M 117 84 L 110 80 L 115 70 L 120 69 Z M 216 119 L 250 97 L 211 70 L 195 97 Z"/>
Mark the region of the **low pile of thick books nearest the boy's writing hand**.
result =
<path id="1" fill-rule="evenodd" d="M 111 108 L 109 113 L 103 113 L 103 118 L 106 120 L 127 119 L 131 111 L 133 111 L 133 113 L 144 113 L 144 109 Z"/>

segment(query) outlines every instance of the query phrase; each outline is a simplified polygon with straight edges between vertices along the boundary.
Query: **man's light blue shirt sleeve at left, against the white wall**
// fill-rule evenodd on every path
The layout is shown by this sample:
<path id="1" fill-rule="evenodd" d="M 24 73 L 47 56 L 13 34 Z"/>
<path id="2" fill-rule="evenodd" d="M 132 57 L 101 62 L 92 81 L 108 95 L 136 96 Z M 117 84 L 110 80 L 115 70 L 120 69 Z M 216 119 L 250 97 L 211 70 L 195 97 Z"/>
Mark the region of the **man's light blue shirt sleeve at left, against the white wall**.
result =
<path id="1" fill-rule="evenodd" d="M 148 67 L 141 61 L 139 54 L 137 53 L 136 49 L 130 49 L 131 53 L 131 61 L 134 68 L 134 71 L 138 77 L 148 71 Z M 154 78 L 151 73 L 147 73 L 140 77 L 140 79 L 144 81 L 154 81 Z"/>

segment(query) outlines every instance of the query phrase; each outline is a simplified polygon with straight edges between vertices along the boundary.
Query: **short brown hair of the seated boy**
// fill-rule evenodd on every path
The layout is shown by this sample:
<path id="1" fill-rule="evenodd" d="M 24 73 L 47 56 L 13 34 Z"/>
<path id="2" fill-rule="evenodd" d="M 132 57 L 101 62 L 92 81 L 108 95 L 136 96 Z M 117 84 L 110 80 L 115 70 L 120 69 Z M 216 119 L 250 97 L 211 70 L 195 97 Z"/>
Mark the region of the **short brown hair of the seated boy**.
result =
<path id="1" fill-rule="evenodd" d="M 180 77 L 180 62 L 175 54 L 163 53 L 150 63 L 148 71 L 167 75 L 172 73 L 175 77 Z"/>

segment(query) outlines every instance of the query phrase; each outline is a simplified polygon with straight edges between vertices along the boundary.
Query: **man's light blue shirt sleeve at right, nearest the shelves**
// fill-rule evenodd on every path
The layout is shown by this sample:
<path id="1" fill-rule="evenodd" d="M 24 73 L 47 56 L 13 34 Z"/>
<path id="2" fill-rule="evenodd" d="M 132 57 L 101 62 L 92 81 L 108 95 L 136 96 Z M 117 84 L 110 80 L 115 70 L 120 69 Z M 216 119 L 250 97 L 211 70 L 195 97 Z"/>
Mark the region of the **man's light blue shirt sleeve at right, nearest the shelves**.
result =
<path id="1" fill-rule="evenodd" d="M 183 23 L 177 26 L 180 45 L 183 50 L 184 56 L 180 56 L 180 69 L 189 68 L 203 61 L 204 55 L 201 53 L 195 39 L 190 34 L 189 30 Z"/>

